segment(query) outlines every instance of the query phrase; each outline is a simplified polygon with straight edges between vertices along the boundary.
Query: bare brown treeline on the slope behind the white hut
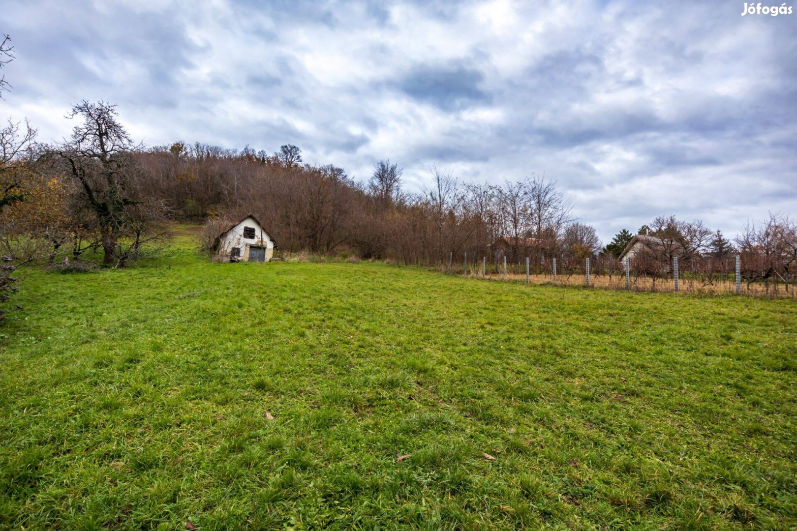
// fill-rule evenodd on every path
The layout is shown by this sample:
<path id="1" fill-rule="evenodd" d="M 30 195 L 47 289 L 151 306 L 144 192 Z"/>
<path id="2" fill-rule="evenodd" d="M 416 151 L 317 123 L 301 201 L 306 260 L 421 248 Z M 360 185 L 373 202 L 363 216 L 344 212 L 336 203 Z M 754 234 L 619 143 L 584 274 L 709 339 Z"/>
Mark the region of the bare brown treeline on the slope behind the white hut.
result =
<path id="1" fill-rule="evenodd" d="M 336 166 L 302 162 L 296 146 L 226 150 L 196 143 L 139 150 L 144 193 L 166 201 L 179 220 L 253 213 L 281 250 L 353 250 L 363 258 L 436 264 L 450 253 L 486 252 L 506 237 L 517 254 L 529 239 L 549 252 L 599 252 L 595 230 L 576 223 L 555 182 L 465 184 L 432 169 L 420 193 L 402 189 L 402 170 L 378 162 L 367 182 Z"/>

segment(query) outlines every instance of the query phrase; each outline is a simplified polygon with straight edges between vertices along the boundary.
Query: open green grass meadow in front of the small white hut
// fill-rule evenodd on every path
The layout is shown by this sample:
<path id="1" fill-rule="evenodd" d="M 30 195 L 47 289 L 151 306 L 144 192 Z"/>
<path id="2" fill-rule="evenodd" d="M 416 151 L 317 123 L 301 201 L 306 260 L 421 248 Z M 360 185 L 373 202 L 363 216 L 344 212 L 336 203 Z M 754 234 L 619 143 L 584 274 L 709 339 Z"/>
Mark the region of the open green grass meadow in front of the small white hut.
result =
<path id="1" fill-rule="evenodd" d="M 794 301 L 210 264 L 184 240 L 22 283 L 0 527 L 797 525 Z"/>

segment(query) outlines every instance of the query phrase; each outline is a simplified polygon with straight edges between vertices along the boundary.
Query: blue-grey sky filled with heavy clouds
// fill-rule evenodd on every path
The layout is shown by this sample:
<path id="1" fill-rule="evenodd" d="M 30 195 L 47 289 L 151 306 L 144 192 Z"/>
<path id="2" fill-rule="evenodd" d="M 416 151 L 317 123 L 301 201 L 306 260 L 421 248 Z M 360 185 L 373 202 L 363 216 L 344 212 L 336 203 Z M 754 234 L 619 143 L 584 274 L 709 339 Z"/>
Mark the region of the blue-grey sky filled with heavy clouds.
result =
<path id="1" fill-rule="evenodd" d="M 6 0 L 0 116 L 57 140 L 103 99 L 148 146 L 292 143 L 357 179 L 391 158 L 410 190 L 544 174 L 604 240 L 660 214 L 733 235 L 797 215 L 797 5 L 743 7 Z"/>

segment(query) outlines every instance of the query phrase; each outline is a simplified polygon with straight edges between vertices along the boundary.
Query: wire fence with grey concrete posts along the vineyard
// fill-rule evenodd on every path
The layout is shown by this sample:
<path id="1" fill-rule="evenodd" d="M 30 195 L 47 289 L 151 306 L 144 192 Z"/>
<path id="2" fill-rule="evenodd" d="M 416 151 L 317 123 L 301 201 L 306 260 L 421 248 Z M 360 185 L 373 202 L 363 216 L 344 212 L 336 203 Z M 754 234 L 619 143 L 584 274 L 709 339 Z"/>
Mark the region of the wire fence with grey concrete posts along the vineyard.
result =
<path id="1" fill-rule="evenodd" d="M 759 255 L 691 260 L 634 256 L 621 261 L 614 256 L 525 256 L 507 260 L 463 253 L 455 260 L 451 253 L 449 264 L 440 268 L 453 275 L 505 282 L 694 295 L 797 297 L 795 272 L 783 270 L 774 260 Z"/>

